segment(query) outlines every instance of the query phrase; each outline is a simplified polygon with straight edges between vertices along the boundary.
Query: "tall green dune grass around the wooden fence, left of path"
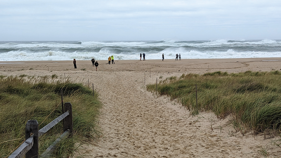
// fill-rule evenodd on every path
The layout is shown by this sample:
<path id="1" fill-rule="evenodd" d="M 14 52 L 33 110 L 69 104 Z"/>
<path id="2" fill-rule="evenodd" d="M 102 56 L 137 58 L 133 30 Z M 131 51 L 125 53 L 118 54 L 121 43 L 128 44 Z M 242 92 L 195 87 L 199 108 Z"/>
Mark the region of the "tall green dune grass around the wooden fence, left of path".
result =
<path id="1" fill-rule="evenodd" d="M 0 80 L 0 154 L 6 157 L 25 139 L 28 120 L 37 120 L 39 129 L 62 114 L 60 91 L 64 102 L 72 104 L 73 137 L 60 142 L 54 157 L 71 157 L 75 144 L 98 139 L 97 117 L 101 102 L 97 93 L 67 78 L 51 80 L 50 76 L 5 77 Z M 62 122 L 39 137 L 42 154 L 64 131 Z"/>

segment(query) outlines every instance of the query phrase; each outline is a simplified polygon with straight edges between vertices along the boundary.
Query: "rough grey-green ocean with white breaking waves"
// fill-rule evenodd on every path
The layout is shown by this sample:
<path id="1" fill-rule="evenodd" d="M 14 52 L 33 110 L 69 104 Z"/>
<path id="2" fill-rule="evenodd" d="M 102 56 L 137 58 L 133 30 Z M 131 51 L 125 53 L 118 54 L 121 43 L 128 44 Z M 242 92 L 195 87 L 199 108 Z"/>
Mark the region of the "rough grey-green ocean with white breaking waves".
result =
<path id="1" fill-rule="evenodd" d="M 281 57 L 281 40 L 0 41 L 0 61 Z"/>

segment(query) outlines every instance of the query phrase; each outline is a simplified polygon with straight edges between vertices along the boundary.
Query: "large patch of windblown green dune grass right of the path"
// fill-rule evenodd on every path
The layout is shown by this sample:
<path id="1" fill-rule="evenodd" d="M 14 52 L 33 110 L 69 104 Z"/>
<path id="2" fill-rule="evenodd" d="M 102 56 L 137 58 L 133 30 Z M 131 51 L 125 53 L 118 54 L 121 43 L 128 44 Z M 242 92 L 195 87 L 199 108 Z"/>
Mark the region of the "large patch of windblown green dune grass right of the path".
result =
<path id="1" fill-rule="evenodd" d="M 196 88 L 198 104 L 196 105 Z M 155 92 L 156 84 L 146 89 Z M 183 74 L 160 80 L 157 93 L 177 99 L 191 115 L 212 111 L 217 118 L 231 116 L 233 127 L 242 134 L 281 131 L 281 72 L 212 72 Z"/>

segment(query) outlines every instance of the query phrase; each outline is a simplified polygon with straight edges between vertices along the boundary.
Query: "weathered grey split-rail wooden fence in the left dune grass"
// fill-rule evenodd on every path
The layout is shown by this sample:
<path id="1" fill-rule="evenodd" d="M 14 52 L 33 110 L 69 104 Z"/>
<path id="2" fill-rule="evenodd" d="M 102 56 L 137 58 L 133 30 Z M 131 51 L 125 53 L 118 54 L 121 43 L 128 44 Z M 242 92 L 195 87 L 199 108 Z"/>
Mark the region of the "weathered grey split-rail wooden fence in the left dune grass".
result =
<path id="1" fill-rule="evenodd" d="M 62 103 L 63 104 L 63 103 Z M 42 129 L 38 130 L 37 120 L 28 120 L 25 126 L 24 143 L 17 148 L 8 158 L 21 158 L 25 155 L 26 158 L 38 158 L 38 137 L 45 134 L 49 129 L 54 127 L 58 122 L 63 120 L 64 133 L 54 141 L 45 152 L 40 155 L 40 158 L 50 157 L 56 148 L 56 144 L 66 136 L 72 136 L 72 106 L 70 102 L 64 103 L 64 114 L 47 124 Z"/>

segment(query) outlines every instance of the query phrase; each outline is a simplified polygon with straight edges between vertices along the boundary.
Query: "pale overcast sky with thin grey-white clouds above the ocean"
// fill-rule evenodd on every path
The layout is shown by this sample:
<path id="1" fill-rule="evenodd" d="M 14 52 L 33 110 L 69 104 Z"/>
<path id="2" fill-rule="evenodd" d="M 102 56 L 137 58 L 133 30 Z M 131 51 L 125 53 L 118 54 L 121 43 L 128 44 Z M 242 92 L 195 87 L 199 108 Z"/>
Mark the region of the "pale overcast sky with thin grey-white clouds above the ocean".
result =
<path id="1" fill-rule="evenodd" d="M 0 41 L 281 39 L 280 0 L 0 0 Z"/>

